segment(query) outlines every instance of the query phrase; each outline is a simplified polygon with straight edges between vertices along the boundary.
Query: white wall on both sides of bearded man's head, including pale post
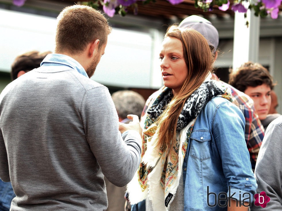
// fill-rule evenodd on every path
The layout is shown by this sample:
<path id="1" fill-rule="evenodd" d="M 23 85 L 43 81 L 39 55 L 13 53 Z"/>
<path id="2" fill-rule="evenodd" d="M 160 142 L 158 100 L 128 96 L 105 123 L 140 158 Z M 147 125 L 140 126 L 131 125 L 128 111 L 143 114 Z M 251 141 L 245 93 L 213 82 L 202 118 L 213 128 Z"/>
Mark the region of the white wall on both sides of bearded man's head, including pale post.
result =
<path id="1" fill-rule="evenodd" d="M 0 71 L 9 72 L 16 56 L 27 51 L 54 51 L 55 31 L 56 18 L 0 9 Z M 160 71 L 153 71 L 158 55 L 152 55 L 157 35 L 113 28 L 92 79 L 108 86 L 160 88 Z"/>

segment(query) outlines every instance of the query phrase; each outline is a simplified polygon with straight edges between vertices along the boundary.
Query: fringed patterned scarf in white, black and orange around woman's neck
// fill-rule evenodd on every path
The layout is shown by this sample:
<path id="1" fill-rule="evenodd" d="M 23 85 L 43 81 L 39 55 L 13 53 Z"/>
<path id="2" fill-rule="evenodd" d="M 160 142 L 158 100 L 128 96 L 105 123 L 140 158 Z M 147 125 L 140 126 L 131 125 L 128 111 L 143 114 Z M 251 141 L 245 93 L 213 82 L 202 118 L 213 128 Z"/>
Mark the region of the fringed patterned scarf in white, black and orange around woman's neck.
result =
<path id="1" fill-rule="evenodd" d="M 167 154 L 167 151 L 152 146 L 157 141 L 157 135 L 155 135 L 157 126 L 153 123 L 173 96 L 170 88 L 163 87 L 159 90 L 157 97 L 151 100 L 146 115 L 142 118 L 144 121 L 142 162 L 134 179 L 127 186 L 131 204 L 149 197 L 154 210 L 169 208 L 182 174 L 182 164 L 196 117 L 214 96 L 221 96 L 232 102 L 230 93 L 220 82 L 207 81 L 201 84 L 184 104 L 177 121 L 176 141 L 172 142 L 174 144 Z M 136 182 L 139 185 L 136 185 Z"/>

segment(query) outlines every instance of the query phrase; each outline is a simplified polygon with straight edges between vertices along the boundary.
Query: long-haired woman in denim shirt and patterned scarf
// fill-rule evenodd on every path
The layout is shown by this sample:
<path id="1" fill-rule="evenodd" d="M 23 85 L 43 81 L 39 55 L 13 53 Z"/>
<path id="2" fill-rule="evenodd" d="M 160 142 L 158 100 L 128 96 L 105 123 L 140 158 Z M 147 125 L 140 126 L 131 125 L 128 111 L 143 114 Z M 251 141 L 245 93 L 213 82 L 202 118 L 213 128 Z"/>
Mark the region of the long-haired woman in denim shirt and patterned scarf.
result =
<path id="1" fill-rule="evenodd" d="M 171 26 L 160 59 L 164 86 L 147 100 L 142 162 L 127 186 L 132 210 L 247 210 L 257 185 L 245 119 L 210 79 L 207 40 Z"/>

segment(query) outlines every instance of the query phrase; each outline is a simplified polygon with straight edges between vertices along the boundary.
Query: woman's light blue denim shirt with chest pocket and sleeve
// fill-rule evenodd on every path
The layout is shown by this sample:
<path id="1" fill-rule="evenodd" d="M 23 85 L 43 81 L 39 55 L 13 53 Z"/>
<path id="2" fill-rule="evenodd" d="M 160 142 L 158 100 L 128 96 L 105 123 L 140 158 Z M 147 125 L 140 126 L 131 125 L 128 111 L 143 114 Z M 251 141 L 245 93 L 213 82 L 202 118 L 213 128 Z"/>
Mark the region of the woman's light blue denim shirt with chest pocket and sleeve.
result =
<path id="1" fill-rule="evenodd" d="M 257 184 L 244 128 L 242 112 L 222 97 L 199 113 L 182 167 L 184 211 L 227 210 L 229 199 L 251 204 Z"/>

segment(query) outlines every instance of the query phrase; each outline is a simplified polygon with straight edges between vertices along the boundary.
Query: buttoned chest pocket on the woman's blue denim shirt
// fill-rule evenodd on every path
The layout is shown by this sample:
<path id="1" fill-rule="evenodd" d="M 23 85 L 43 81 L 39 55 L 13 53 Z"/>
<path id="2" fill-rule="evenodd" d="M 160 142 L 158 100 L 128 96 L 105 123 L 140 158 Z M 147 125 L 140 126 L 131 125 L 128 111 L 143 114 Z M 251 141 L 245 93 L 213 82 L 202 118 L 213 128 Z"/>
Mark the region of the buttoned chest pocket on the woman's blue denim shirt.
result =
<path id="1" fill-rule="evenodd" d="M 211 134 L 208 130 L 192 131 L 190 156 L 203 161 L 210 158 Z"/>

